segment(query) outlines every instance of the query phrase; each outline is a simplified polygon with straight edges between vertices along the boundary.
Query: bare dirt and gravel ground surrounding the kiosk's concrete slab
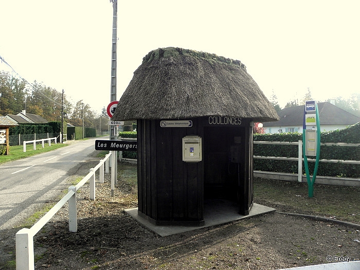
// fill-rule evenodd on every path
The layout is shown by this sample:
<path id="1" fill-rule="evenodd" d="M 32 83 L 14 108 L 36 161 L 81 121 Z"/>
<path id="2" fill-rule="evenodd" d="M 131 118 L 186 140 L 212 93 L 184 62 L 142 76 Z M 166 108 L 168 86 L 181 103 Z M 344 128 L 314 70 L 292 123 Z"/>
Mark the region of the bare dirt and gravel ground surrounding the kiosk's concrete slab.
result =
<path id="1" fill-rule="evenodd" d="M 77 175 L 86 175 L 96 160 L 88 161 Z M 95 201 L 89 200 L 88 184 L 78 192 L 77 233 L 68 231 L 65 205 L 35 235 L 35 269 L 280 269 L 346 258 L 360 260 L 360 231 L 356 228 L 279 213 L 317 213 L 316 207 L 307 208 L 306 190 L 299 183 L 256 179 L 255 202 L 274 207 L 276 212 L 160 237 L 123 211 L 137 206 L 136 170 L 134 165 L 119 165 L 118 169 L 121 178 L 114 197 L 109 181 L 96 184 Z M 271 191 L 258 192 L 267 189 L 264 182 L 276 187 L 285 199 L 271 197 Z M 360 189 L 322 185 L 315 188 L 317 203 L 332 204 L 331 191 L 343 189 L 351 195 L 341 201 L 344 205 L 360 204 Z M 283 201 L 287 197 L 289 203 Z M 358 208 L 349 211 L 342 219 L 354 222 L 352 217 L 358 218 L 360 212 Z M 13 268 L 14 237 L 19 229 L 5 232 L 8 237 L 0 239 L 4 250 L 1 269 Z"/>

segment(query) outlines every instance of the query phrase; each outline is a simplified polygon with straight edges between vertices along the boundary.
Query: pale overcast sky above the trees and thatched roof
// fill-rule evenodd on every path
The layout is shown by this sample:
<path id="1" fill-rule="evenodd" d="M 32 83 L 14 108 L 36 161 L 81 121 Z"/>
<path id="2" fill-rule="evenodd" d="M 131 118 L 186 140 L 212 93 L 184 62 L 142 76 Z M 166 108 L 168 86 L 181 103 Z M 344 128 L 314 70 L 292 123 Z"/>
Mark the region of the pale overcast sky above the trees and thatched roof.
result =
<path id="1" fill-rule="evenodd" d="M 0 56 L 17 73 L 97 112 L 110 103 L 109 0 L 2 0 L 0 10 Z M 170 46 L 240 60 L 281 107 L 308 87 L 320 101 L 348 98 L 360 92 L 359 10 L 358 0 L 119 1 L 117 100 L 142 58 Z"/>

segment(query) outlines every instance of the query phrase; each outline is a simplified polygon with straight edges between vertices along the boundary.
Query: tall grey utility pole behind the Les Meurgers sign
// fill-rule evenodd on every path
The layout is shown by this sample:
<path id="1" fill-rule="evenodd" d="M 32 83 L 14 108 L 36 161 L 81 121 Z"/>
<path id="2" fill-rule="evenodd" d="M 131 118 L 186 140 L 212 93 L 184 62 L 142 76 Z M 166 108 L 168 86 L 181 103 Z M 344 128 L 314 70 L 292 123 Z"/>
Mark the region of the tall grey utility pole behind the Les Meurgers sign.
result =
<path id="1" fill-rule="evenodd" d="M 116 101 L 116 46 L 117 46 L 117 0 L 111 0 L 113 3 L 113 39 L 112 39 L 112 53 L 111 53 L 111 88 L 110 88 L 110 102 Z M 117 140 L 117 127 L 111 125 L 110 139 Z M 117 182 L 117 151 L 113 151 L 114 160 L 111 168 L 114 175 L 115 183 Z M 111 195 L 114 196 L 114 190 L 111 190 Z"/>

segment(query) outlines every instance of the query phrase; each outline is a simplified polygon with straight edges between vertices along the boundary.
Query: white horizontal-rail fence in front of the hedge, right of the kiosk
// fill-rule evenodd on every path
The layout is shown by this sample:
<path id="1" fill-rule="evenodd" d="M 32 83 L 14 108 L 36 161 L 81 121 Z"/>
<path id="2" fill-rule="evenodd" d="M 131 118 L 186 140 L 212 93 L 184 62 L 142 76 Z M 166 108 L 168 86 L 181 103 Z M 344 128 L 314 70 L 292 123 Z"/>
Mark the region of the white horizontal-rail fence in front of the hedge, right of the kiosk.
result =
<path id="1" fill-rule="evenodd" d="M 261 145 L 298 145 L 298 157 L 284 157 L 284 156 L 254 156 L 254 158 L 258 159 L 273 159 L 273 160 L 292 160 L 298 161 L 298 182 L 302 181 L 302 140 L 298 142 L 289 142 L 289 141 L 256 141 L 254 140 L 254 144 Z M 321 143 L 321 145 L 326 146 L 342 146 L 342 147 L 358 147 L 360 143 L 344 143 L 344 142 L 326 142 Z M 314 158 L 308 158 L 308 161 L 315 162 Z M 323 163 L 344 163 L 344 164 L 360 164 L 359 160 L 341 160 L 341 159 L 320 159 L 319 162 Z"/>

